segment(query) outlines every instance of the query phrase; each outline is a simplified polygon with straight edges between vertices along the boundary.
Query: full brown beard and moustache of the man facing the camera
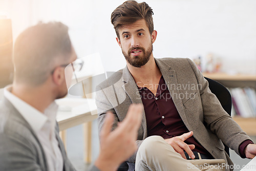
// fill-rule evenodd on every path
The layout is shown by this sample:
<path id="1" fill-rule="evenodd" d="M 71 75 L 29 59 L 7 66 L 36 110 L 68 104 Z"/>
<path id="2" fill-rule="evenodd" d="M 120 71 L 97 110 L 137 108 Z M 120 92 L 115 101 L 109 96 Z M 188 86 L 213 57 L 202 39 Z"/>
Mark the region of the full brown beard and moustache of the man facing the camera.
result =
<path id="1" fill-rule="evenodd" d="M 131 56 L 132 50 L 141 50 L 142 51 L 142 55 L 138 55 L 138 56 Z M 144 66 L 148 60 L 150 60 L 150 56 L 152 54 L 153 51 L 153 45 L 151 45 L 150 48 L 147 49 L 147 51 L 145 51 L 144 48 L 142 47 L 137 47 L 137 48 L 131 48 L 128 51 L 128 54 L 126 54 L 125 52 L 123 52 L 123 56 L 125 57 L 125 59 L 133 66 L 133 67 L 137 67 L 140 68 L 141 66 Z"/>

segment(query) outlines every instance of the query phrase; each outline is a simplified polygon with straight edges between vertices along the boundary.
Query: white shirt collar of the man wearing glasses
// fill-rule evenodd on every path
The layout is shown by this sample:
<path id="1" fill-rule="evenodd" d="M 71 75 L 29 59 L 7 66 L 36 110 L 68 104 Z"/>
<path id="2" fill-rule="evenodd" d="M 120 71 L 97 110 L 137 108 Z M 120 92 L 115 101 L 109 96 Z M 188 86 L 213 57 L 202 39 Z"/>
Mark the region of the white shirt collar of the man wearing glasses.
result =
<path id="1" fill-rule="evenodd" d="M 51 103 L 44 114 L 33 108 L 30 104 L 16 97 L 11 93 L 12 86 L 4 89 L 4 96 L 14 105 L 17 111 L 25 118 L 35 132 L 39 132 L 44 124 L 49 120 L 55 123 L 58 106 L 55 102 Z"/>

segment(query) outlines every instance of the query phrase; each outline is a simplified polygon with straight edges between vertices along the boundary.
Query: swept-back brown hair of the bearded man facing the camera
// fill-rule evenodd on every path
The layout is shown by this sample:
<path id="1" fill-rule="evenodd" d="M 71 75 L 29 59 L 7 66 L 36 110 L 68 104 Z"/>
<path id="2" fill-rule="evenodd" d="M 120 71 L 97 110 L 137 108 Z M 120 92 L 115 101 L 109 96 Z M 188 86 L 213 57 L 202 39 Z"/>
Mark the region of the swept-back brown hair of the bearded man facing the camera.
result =
<path id="1" fill-rule="evenodd" d="M 118 6 L 111 14 L 111 23 L 114 25 L 117 37 L 120 39 L 118 29 L 124 25 L 131 25 L 140 19 L 145 19 L 150 34 L 154 31 L 152 17 L 153 9 L 147 3 L 126 1 Z"/>

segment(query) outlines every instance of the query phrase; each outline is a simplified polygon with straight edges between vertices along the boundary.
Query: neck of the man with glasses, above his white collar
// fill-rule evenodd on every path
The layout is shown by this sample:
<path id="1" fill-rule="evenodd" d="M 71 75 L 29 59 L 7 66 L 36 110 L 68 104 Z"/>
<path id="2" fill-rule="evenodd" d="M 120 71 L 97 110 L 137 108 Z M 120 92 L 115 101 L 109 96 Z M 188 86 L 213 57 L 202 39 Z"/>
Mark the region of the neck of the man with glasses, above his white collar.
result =
<path id="1" fill-rule="evenodd" d="M 14 83 L 11 93 L 41 113 L 44 113 L 46 108 L 53 102 L 49 95 L 49 90 L 46 90 L 44 86 L 34 88 Z"/>

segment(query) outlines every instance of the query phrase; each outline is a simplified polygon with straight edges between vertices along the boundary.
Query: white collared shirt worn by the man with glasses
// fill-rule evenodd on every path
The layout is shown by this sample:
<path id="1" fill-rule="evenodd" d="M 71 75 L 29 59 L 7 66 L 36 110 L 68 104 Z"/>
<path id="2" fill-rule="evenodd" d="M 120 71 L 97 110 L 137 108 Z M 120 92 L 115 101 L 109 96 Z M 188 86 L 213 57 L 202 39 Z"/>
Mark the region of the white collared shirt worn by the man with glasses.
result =
<path id="1" fill-rule="evenodd" d="M 44 113 L 41 113 L 22 99 L 13 95 L 11 89 L 11 86 L 6 87 L 4 89 L 4 96 L 14 105 L 36 133 L 44 148 L 49 170 L 62 171 L 63 157 L 55 135 L 58 105 L 53 102 Z"/>

